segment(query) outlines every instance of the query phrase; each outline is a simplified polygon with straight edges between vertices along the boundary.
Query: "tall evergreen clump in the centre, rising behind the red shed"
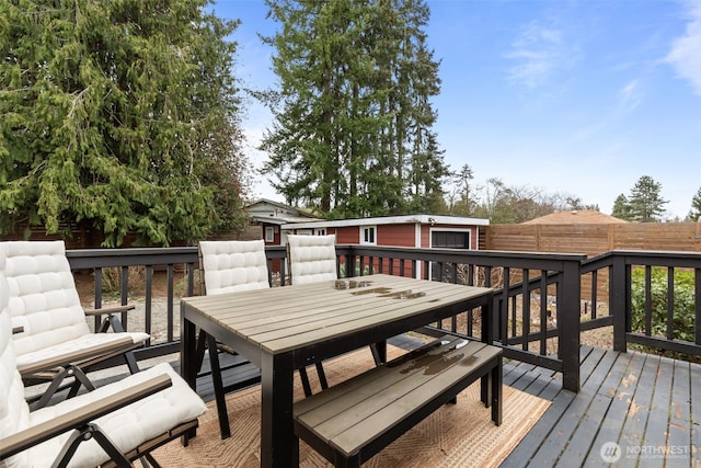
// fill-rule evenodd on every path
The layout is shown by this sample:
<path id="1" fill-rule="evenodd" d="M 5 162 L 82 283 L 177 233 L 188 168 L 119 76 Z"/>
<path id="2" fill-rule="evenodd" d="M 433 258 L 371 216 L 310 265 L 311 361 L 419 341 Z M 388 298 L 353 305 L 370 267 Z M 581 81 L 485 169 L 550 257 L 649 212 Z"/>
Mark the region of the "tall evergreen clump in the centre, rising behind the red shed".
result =
<path id="1" fill-rule="evenodd" d="M 326 217 L 426 210 L 447 175 L 432 132 L 438 65 L 416 0 L 266 0 L 281 88 L 263 168 L 287 203 Z"/>

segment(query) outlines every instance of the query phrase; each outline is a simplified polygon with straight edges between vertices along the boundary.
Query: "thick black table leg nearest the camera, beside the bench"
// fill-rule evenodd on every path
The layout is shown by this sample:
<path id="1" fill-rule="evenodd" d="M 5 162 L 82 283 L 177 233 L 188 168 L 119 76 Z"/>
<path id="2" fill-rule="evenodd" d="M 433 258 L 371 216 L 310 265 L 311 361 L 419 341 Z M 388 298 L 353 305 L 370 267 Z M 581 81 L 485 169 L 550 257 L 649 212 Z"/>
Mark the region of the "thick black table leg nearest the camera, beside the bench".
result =
<path id="1" fill-rule="evenodd" d="M 261 367 L 261 466 L 298 466 L 299 442 L 294 434 L 292 356 L 262 356 Z"/>

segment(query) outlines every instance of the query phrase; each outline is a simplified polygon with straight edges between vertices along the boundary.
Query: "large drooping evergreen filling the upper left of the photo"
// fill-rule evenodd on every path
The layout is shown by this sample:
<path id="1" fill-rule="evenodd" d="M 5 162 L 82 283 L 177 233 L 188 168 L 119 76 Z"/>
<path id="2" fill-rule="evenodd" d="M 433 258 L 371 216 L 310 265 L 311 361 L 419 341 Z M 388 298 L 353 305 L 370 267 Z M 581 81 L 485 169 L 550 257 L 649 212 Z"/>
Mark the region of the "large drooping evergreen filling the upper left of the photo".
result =
<path id="1" fill-rule="evenodd" d="M 0 229 L 166 246 L 241 226 L 238 23 L 207 3 L 0 0 Z"/>

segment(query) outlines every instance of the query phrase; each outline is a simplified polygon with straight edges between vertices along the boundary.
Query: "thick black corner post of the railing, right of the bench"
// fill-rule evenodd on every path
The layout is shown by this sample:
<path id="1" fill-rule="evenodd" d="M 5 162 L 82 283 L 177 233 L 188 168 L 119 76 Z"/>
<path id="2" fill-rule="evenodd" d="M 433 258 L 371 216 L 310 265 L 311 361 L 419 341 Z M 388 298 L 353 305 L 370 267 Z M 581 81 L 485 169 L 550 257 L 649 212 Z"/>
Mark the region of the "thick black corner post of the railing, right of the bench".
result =
<path id="1" fill-rule="evenodd" d="M 579 303 L 581 271 L 578 261 L 565 261 L 562 283 L 558 287 L 558 330 L 562 358 L 562 387 L 579 391 Z"/>

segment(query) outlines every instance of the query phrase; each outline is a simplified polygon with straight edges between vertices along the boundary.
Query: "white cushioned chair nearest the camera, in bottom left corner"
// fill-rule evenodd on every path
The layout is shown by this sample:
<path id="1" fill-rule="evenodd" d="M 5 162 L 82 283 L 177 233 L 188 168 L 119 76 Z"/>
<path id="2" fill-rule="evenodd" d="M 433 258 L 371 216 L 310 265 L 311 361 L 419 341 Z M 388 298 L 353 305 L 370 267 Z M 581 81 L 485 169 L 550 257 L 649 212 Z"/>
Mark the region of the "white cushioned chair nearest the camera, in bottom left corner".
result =
<path id="1" fill-rule="evenodd" d="M 166 364 L 30 412 L 18 372 L 12 300 L 0 250 L 0 466 L 131 466 L 150 450 L 195 435 L 203 400 Z M 32 324 L 31 321 L 27 321 Z"/>

